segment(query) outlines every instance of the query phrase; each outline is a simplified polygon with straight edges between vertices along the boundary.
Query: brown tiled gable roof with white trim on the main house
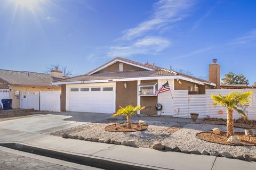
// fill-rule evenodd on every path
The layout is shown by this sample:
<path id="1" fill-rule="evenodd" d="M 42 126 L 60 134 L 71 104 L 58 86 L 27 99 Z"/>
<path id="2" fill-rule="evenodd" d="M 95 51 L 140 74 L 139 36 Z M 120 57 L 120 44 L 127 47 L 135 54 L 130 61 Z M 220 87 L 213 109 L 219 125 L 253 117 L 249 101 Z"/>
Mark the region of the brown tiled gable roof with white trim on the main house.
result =
<path id="1" fill-rule="evenodd" d="M 145 70 L 122 71 L 122 72 L 112 72 L 112 73 L 97 73 L 98 71 L 100 71 L 100 70 L 106 68 L 107 66 L 114 64 L 116 62 L 123 62 L 126 64 L 131 64 L 134 66 L 142 67 Z M 159 67 L 159 66 L 156 66 L 153 64 L 149 64 L 149 63 L 142 64 L 142 63 L 128 60 L 128 59 L 122 58 L 122 57 L 115 57 L 115 58 L 113 58 L 113 60 L 110 60 L 109 62 L 87 72 L 86 74 L 78 75 L 76 77 L 62 79 L 62 80 L 54 81 L 54 82 L 75 82 L 75 81 L 79 82 L 79 81 L 129 79 L 129 78 L 142 78 L 142 77 L 166 77 L 166 76 L 175 76 L 175 75 L 180 75 L 187 79 L 192 79 L 194 81 L 199 81 L 202 83 L 207 83 L 207 84 L 213 85 L 213 83 L 211 83 L 208 80 L 203 80 L 203 79 L 193 77 L 191 75 L 186 75 L 186 74 L 178 73 L 178 72 L 175 72 L 172 70 L 167 70 L 162 67 Z"/>

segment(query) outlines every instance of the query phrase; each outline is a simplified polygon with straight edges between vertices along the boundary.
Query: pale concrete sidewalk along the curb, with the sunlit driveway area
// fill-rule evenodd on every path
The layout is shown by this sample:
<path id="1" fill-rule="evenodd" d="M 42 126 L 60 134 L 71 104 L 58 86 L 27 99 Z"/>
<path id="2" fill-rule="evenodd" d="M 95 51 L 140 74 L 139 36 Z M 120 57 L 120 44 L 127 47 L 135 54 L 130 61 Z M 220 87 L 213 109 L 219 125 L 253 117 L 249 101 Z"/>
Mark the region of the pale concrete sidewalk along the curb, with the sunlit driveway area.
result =
<path id="1" fill-rule="evenodd" d="M 67 116 L 43 115 L 0 122 L 0 143 L 21 143 L 83 157 L 109 160 L 113 163 L 148 166 L 152 169 L 255 169 L 256 162 L 238 159 L 165 152 L 148 148 L 63 139 L 49 135 L 85 122 L 63 121 Z M 38 121 L 40 120 L 40 121 Z M 41 123 L 42 121 L 42 123 Z"/>

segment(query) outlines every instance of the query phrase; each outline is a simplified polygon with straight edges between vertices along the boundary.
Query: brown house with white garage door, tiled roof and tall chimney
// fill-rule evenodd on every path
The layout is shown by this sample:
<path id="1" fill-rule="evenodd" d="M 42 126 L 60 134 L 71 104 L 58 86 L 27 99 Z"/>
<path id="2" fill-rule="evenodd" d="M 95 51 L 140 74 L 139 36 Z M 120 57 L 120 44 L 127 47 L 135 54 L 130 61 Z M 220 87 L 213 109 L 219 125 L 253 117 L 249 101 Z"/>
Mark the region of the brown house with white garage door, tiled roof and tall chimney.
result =
<path id="1" fill-rule="evenodd" d="M 139 114 L 157 115 L 161 113 L 155 106 L 160 103 L 163 113 L 172 115 L 174 90 L 205 94 L 205 89 L 219 88 L 219 74 L 217 60 L 209 65 L 209 81 L 155 64 L 116 57 L 84 75 L 55 81 L 53 84 L 61 85 L 61 111 L 114 113 L 119 106 L 131 104 L 146 106 Z M 154 96 L 167 81 L 171 91 Z"/>

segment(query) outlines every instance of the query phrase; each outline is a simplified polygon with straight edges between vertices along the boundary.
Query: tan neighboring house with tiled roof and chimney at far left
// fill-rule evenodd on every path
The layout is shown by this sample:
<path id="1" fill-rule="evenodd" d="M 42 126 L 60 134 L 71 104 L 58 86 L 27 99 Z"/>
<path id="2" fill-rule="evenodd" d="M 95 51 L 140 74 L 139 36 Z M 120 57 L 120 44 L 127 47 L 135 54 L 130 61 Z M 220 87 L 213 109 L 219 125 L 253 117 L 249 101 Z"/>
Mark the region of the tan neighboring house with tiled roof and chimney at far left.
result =
<path id="1" fill-rule="evenodd" d="M 60 86 L 53 85 L 52 82 L 62 78 L 62 72 L 58 69 L 52 70 L 51 74 L 0 70 L 0 104 L 1 99 L 9 98 L 12 99 L 12 108 L 20 108 L 21 100 L 26 95 L 61 90 Z"/>

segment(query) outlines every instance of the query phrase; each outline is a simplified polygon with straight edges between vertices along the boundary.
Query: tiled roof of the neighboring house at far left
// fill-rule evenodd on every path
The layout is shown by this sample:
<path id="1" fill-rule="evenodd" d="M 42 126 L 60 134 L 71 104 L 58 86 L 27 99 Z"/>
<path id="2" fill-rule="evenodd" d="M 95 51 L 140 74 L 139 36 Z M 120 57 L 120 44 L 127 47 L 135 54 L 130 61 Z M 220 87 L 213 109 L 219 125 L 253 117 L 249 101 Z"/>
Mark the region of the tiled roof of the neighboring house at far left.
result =
<path id="1" fill-rule="evenodd" d="M 51 77 L 50 74 L 1 69 L 0 78 L 10 84 L 45 87 L 53 86 L 53 81 L 60 80 L 60 78 Z"/>

